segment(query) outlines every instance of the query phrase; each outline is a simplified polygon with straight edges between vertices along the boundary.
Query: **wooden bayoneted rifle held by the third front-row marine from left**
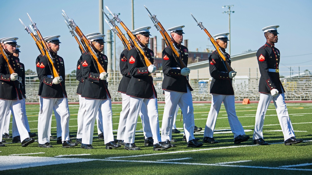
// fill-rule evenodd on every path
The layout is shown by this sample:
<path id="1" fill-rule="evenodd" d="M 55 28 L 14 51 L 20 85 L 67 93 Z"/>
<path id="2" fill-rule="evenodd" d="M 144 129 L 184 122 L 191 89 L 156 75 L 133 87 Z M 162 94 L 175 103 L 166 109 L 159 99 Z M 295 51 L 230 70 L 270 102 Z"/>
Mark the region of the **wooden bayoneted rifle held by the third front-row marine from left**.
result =
<path id="1" fill-rule="evenodd" d="M 103 68 L 102 64 L 99 61 L 99 58 L 97 56 L 97 53 L 94 51 L 94 49 L 92 48 L 90 42 L 88 41 L 88 39 L 85 37 L 85 35 L 82 33 L 82 31 L 80 30 L 80 28 L 76 25 L 76 23 L 74 22 L 73 19 L 69 19 L 69 17 L 66 15 L 65 11 L 62 10 L 64 14 L 62 14 L 67 23 L 69 24 L 69 26 L 71 26 L 72 30 L 75 30 L 75 32 L 77 33 L 77 35 L 80 37 L 82 44 L 85 46 L 86 51 L 91 55 L 91 57 L 95 60 L 97 67 L 98 67 L 98 71 L 99 73 L 106 73 L 106 70 Z"/>

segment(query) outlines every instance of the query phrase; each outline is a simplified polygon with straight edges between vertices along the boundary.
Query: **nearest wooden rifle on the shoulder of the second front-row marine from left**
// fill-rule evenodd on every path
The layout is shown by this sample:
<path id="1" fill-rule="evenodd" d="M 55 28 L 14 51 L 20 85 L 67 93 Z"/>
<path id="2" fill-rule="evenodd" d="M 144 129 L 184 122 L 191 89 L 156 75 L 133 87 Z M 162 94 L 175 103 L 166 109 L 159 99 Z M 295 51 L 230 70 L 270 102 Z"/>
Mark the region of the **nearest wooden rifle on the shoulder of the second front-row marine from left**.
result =
<path id="1" fill-rule="evenodd" d="M 51 70 L 51 74 L 52 74 L 52 78 L 55 78 L 55 77 L 60 77 L 60 75 L 58 74 L 57 72 L 57 69 L 55 68 L 54 64 L 54 60 L 52 59 L 53 57 L 51 56 L 51 53 L 49 51 L 49 48 L 48 46 L 46 45 L 46 41 L 43 39 L 40 31 L 38 30 L 37 26 L 36 26 L 36 23 L 35 22 L 32 22 L 32 18 L 29 16 L 29 14 L 27 13 L 31 23 L 32 23 L 32 27 L 34 28 L 34 30 L 37 32 L 37 35 L 38 35 L 38 38 L 39 40 L 41 41 L 41 45 L 43 46 L 44 50 L 45 50 L 45 56 L 48 60 L 48 63 L 50 63 L 51 67 L 50 69 Z M 37 45 L 38 46 L 38 45 Z"/>

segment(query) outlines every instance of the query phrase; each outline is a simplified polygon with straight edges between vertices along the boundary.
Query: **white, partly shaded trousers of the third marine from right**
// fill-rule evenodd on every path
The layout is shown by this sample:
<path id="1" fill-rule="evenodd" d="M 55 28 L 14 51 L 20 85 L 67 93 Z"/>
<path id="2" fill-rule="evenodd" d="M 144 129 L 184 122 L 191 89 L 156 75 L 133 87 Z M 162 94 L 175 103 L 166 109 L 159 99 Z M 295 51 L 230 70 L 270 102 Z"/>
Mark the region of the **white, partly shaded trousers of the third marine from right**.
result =
<path id="1" fill-rule="evenodd" d="M 192 100 L 192 92 L 187 87 L 188 92 L 176 92 L 164 90 L 165 92 L 165 107 L 163 110 L 163 122 L 161 125 L 161 140 L 171 140 L 172 126 L 177 106 L 183 113 L 183 127 L 186 140 L 193 140 L 194 138 L 194 108 Z"/>

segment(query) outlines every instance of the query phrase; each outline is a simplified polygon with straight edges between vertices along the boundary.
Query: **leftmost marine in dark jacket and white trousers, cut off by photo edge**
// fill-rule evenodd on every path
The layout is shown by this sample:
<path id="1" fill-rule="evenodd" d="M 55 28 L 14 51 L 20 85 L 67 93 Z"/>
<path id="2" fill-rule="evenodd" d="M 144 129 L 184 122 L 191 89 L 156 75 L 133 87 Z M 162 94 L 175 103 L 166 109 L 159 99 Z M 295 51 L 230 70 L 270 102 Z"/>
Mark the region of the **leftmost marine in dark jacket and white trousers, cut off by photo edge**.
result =
<path id="1" fill-rule="evenodd" d="M 10 108 L 13 111 L 14 118 L 16 120 L 16 125 L 20 138 L 22 140 L 22 146 L 27 146 L 33 143 L 35 140 L 29 137 L 26 129 L 24 114 L 22 109 L 24 108 L 24 103 L 22 100 L 22 90 L 20 88 L 22 75 L 21 67 L 19 64 L 19 59 L 13 55 L 16 50 L 17 40 L 16 37 L 9 37 L 1 40 L 4 52 L 8 55 L 8 60 L 15 73 L 10 74 L 8 69 L 8 64 L 4 59 L 3 55 L 0 54 L 0 131 L 3 134 L 5 118 L 10 113 Z M 2 137 L 0 138 L 0 146 L 5 146 L 2 144 Z"/>

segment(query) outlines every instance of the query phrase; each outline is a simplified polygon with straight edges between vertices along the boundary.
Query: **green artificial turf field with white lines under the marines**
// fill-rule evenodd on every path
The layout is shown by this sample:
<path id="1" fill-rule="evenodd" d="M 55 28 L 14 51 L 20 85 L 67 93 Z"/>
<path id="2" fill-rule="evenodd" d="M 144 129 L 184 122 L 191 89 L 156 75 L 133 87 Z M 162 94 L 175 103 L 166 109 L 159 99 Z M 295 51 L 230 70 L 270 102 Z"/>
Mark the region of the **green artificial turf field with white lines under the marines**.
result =
<path id="1" fill-rule="evenodd" d="M 207 115 L 211 104 L 194 104 L 195 125 L 205 128 Z M 164 104 L 158 104 L 159 124 L 163 115 Z M 236 104 L 236 114 L 250 139 L 241 144 L 234 144 L 233 134 L 229 133 L 230 125 L 227 113 L 222 105 L 217 118 L 214 139 L 218 144 L 204 144 L 200 148 L 187 148 L 186 142 L 182 141 L 183 134 L 173 134 L 178 140 L 174 143 L 177 147 L 163 151 L 153 151 L 152 147 L 144 146 L 144 135 L 141 119 L 138 119 L 135 144 L 140 151 L 119 149 L 105 149 L 104 141 L 97 139 L 95 126 L 92 146 L 95 149 L 81 149 L 80 145 L 73 148 L 62 148 L 51 140 L 53 148 L 39 148 L 37 142 L 27 147 L 21 147 L 20 143 L 9 143 L 6 147 L 0 147 L 0 168 L 3 166 L 2 156 L 12 154 L 29 154 L 11 156 L 15 158 L 22 156 L 33 157 L 34 161 L 41 162 L 43 157 L 54 157 L 60 155 L 71 155 L 60 157 L 71 160 L 75 158 L 96 159 L 80 163 L 36 166 L 30 168 L 9 169 L 0 171 L 0 174 L 312 174 L 312 104 L 289 103 L 287 104 L 295 135 L 303 139 L 301 144 L 285 146 L 284 137 L 280 131 L 279 121 L 273 104 L 266 112 L 263 127 L 264 139 L 270 143 L 267 146 L 254 145 L 252 134 L 255 124 L 257 104 Z M 70 105 L 70 134 L 76 136 L 77 112 L 79 105 Z M 27 116 L 31 132 L 37 133 L 37 119 L 39 105 L 26 105 Z M 113 104 L 113 129 L 116 138 L 119 113 L 121 104 Z M 176 125 L 178 130 L 183 131 L 183 122 L 180 122 L 179 110 Z M 12 121 L 12 118 L 11 118 Z M 11 124 L 12 125 L 12 124 Z M 10 126 L 11 130 L 11 126 Z M 195 133 L 195 137 L 202 141 L 203 130 Z M 56 121 L 52 116 L 52 135 L 56 136 Z M 12 135 L 10 131 L 10 135 Z M 35 137 L 37 140 L 37 137 Z M 72 138 L 73 141 L 76 138 Z M 201 142 L 199 141 L 199 142 Z M 88 155 L 79 155 L 88 154 Z M 25 158 L 26 158 L 25 157 Z M 27 162 L 23 162 L 27 165 Z M 295 166 L 296 165 L 296 166 Z M 288 166 L 288 167 L 286 167 Z"/>

